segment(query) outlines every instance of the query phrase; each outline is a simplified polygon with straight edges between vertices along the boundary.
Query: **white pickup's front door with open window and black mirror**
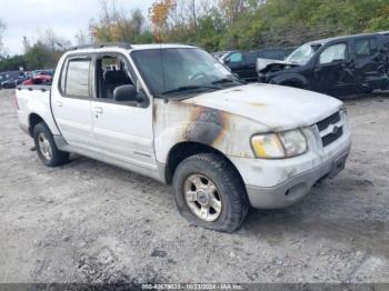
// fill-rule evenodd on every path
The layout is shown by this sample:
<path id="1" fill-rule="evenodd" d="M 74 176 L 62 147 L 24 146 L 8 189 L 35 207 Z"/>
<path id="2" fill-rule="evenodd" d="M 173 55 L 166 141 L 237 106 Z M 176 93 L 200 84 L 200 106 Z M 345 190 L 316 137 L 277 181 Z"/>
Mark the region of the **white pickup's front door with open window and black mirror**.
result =
<path id="1" fill-rule="evenodd" d="M 97 96 L 91 104 L 93 133 L 106 162 L 148 174 L 157 169 L 152 106 L 114 100 L 117 88 L 137 83 L 129 68 L 127 58 L 118 53 L 96 58 Z"/>

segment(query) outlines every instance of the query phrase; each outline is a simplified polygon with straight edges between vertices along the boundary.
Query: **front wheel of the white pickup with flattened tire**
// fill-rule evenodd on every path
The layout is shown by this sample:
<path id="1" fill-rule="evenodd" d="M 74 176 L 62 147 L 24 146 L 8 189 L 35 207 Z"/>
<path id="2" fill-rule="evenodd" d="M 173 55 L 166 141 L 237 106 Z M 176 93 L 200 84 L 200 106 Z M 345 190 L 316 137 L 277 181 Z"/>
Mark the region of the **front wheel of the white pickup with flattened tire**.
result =
<path id="1" fill-rule="evenodd" d="M 249 210 L 239 174 L 228 161 L 213 153 L 183 160 L 173 174 L 173 192 L 181 215 L 206 229 L 233 232 Z"/>

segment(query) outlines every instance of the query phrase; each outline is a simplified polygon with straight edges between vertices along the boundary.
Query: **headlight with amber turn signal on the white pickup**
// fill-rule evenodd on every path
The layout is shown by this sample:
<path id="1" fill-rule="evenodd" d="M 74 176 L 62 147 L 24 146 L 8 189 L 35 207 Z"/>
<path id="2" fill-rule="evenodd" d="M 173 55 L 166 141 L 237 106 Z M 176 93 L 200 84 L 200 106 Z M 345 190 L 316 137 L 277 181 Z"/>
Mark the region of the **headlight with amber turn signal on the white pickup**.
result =
<path id="1" fill-rule="evenodd" d="M 296 157 L 308 149 L 306 138 L 300 130 L 253 136 L 251 144 L 257 158 L 262 159 Z"/>

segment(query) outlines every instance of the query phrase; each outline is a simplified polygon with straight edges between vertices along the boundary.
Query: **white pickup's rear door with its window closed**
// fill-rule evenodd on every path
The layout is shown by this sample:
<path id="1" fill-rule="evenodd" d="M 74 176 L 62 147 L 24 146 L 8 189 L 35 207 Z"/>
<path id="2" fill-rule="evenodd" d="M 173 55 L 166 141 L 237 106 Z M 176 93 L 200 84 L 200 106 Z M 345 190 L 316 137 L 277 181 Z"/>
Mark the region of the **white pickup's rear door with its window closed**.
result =
<path id="1" fill-rule="evenodd" d="M 78 152 L 101 158 L 92 131 L 91 60 L 91 56 L 76 56 L 64 61 L 51 107 L 64 140 Z"/>

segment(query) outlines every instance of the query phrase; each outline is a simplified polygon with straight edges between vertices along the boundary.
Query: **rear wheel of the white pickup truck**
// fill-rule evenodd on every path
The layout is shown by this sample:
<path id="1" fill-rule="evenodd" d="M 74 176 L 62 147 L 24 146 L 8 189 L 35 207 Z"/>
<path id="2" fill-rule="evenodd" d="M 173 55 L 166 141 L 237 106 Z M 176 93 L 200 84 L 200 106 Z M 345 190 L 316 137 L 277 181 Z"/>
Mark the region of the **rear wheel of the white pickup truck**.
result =
<path id="1" fill-rule="evenodd" d="M 69 161 L 69 153 L 57 148 L 52 133 L 44 122 L 33 128 L 33 141 L 38 157 L 44 165 L 57 167 Z"/>

